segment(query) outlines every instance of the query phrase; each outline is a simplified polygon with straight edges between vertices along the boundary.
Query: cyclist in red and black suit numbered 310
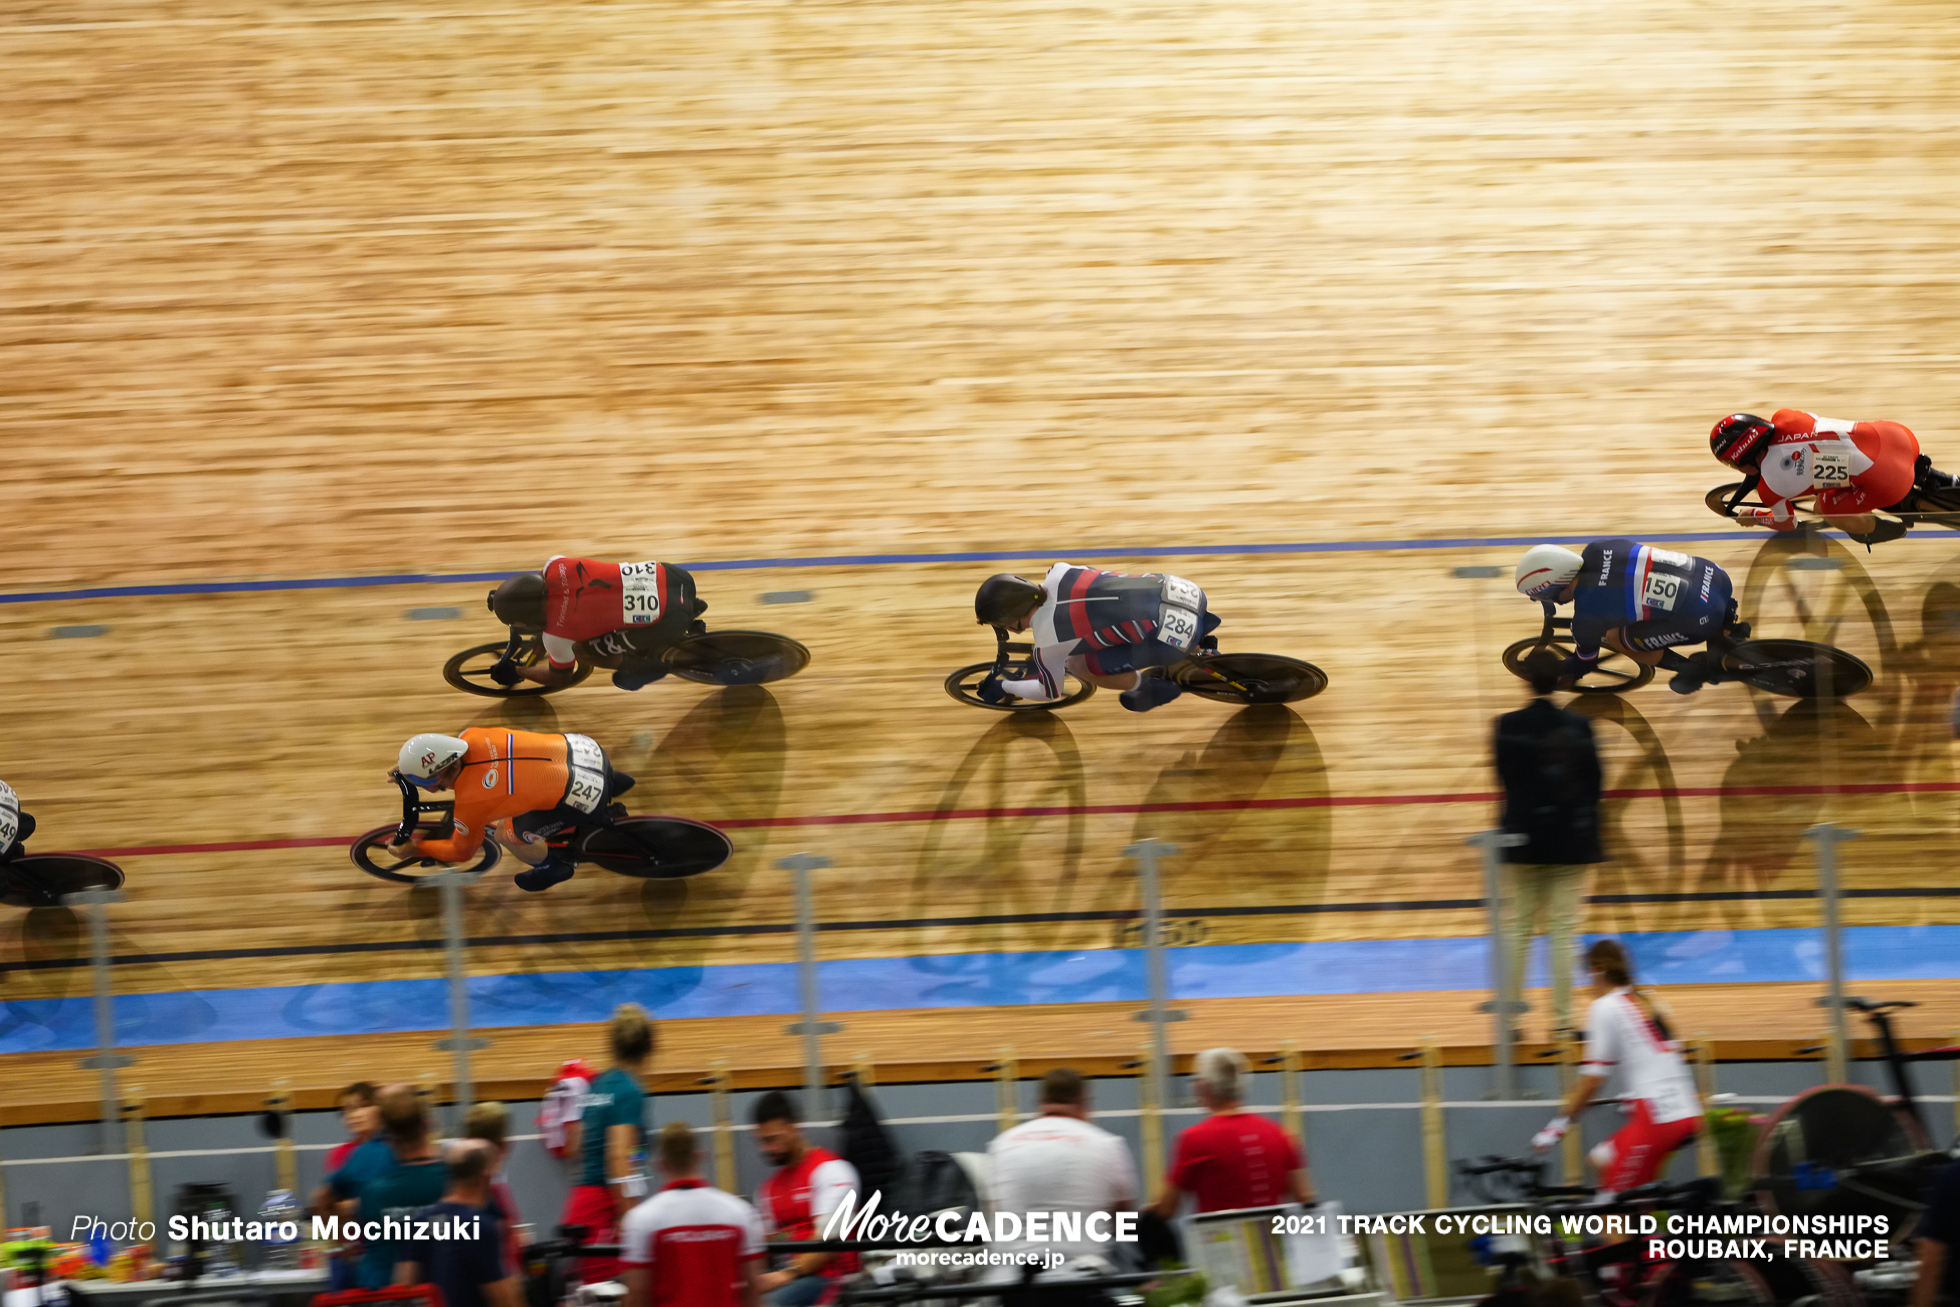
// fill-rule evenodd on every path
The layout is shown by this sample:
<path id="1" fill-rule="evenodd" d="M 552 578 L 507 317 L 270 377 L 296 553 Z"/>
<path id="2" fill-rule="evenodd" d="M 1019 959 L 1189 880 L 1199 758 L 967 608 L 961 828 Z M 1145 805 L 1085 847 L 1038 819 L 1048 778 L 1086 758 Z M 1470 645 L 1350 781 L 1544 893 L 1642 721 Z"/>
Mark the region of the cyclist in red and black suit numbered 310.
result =
<path id="1" fill-rule="evenodd" d="M 694 598 L 694 578 L 672 562 L 559 555 L 543 572 L 521 572 L 492 590 L 490 611 L 508 627 L 545 633 L 547 666 L 498 662 L 490 670 L 498 684 L 563 686 L 584 643 L 586 660 L 612 668 L 617 688 L 639 690 L 666 676 L 661 654 L 690 633 L 706 631 L 696 617 L 708 604 Z"/>

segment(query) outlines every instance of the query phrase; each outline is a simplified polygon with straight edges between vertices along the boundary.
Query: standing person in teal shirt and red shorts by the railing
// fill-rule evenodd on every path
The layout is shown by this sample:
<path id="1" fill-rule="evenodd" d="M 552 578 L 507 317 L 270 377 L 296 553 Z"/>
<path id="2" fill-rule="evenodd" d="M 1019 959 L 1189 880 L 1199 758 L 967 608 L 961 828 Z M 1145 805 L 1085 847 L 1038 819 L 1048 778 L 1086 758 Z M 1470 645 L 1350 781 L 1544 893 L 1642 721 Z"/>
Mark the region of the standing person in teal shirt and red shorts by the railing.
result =
<path id="1" fill-rule="evenodd" d="M 641 1160 L 647 1152 L 647 1091 L 641 1076 L 653 1060 L 653 1019 L 639 1003 L 613 1009 L 613 1064 L 586 1089 L 578 1119 L 578 1184 L 564 1197 L 564 1225 L 590 1231 L 588 1242 L 619 1242 L 619 1217 L 647 1197 Z M 612 1280 L 619 1258 L 582 1258 L 584 1280 Z"/>

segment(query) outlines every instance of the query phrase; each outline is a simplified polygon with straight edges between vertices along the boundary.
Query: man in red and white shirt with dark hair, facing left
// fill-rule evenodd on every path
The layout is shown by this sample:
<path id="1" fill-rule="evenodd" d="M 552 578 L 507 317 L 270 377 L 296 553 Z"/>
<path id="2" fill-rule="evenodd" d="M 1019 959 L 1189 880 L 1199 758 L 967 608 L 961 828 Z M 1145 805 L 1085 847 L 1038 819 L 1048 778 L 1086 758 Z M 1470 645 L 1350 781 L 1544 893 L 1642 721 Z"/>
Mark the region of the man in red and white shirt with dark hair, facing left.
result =
<path id="1" fill-rule="evenodd" d="M 776 1168 L 755 1191 L 770 1238 L 817 1238 L 823 1219 L 857 1191 L 857 1170 L 804 1138 L 798 1103 L 782 1089 L 759 1097 L 749 1119 L 755 1123 L 755 1146 Z M 770 1307 L 809 1307 L 857 1264 L 855 1252 L 798 1252 L 786 1268 L 766 1272 L 760 1289 Z"/>

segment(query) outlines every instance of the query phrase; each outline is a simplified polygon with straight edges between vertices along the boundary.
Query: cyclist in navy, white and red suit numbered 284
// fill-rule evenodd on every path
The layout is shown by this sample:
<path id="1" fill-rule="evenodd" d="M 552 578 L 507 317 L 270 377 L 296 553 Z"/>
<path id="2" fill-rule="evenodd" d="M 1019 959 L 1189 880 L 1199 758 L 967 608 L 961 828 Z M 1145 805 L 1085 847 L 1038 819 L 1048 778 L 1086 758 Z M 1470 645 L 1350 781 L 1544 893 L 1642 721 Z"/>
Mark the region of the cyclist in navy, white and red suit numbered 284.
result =
<path id="1" fill-rule="evenodd" d="M 974 690 L 988 703 L 1009 696 L 1035 703 L 1062 698 L 1062 676 L 1076 676 L 1117 696 L 1133 713 L 1162 707 L 1184 694 L 1164 668 L 1215 651 L 1219 627 L 1205 592 L 1182 576 L 1127 576 L 1056 562 L 1041 582 L 1002 572 L 980 582 L 974 617 L 984 627 L 1033 631 L 1033 676 L 988 676 Z"/>

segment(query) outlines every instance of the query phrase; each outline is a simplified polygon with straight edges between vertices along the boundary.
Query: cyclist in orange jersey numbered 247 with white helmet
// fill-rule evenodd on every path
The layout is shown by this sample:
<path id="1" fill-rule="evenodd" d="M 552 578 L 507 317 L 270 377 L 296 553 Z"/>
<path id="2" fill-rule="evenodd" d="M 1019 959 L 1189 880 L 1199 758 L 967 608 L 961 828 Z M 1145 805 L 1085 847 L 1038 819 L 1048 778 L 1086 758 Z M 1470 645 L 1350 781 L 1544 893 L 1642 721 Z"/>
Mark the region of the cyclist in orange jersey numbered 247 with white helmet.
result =
<path id="1" fill-rule="evenodd" d="M 455 835 L 388 845 L 396 856 L 468 862 L 484 839 L 531 864 L 519 890 L 549 890 L 572 878 L 576 841 L 613 817 L 613 803 L 633 788 L 606 750 L 584 735 L 547 735 L 470 727 L 463 735 L 416 735 L 402 745 L 396 768 L 417 790 L 455 790 Z"/>

